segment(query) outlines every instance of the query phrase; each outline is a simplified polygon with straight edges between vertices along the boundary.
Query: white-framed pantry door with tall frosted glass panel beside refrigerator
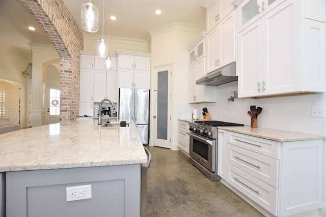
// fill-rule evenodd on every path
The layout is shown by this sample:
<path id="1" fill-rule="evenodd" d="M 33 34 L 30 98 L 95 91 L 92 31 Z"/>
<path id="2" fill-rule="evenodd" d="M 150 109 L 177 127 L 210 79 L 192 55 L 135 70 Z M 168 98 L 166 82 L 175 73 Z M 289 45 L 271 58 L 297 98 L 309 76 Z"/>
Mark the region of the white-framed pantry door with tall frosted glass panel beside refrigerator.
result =
<path id="1" fill-rule="evenodd" d="M 153 139 L 154 146 L 171 148 L 171 66 L 154 69 Z"/>

